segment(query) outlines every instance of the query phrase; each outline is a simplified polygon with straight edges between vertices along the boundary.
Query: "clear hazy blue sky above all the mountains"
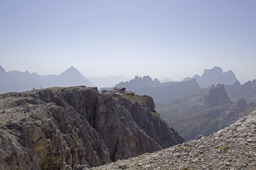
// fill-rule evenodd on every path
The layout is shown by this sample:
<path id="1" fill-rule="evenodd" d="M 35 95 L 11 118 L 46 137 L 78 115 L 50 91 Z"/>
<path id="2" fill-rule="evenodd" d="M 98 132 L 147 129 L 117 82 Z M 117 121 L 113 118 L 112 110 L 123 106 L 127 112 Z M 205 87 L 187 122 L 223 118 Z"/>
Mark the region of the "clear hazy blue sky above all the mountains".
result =
<path id="1" fill-rule="evenodd" d="M 219 66 L 256 78 L 256 0 L 1 0 L 6 71 L 178 80 Z"/>

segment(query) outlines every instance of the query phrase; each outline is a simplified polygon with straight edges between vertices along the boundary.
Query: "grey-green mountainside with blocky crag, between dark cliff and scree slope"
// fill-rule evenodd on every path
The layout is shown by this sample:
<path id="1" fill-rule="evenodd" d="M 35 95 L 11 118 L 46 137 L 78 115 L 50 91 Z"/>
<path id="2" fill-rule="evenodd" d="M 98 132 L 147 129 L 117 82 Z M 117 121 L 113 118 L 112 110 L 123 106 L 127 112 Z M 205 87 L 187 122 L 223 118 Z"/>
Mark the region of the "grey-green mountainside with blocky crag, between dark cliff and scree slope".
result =
<path id="1" fill-rule="evenodd" d="M 169 127 L 173 127 L 186 141 L 197 135 L 209 136 L 255 110 L 254 102 L 248 104 L 240 98 L 231 101 L 224 84 L 214 84 L 197 90 L 172 104 L 157 106 L 156 111 Z"/>

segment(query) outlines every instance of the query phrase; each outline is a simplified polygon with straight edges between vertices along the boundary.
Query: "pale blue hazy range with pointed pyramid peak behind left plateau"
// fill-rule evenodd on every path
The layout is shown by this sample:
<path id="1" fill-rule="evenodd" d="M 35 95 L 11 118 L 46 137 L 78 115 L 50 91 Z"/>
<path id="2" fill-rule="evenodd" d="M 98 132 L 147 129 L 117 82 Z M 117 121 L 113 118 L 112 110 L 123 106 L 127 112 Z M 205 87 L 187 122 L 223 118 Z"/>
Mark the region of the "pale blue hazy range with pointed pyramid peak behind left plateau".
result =
<path id="1" fill-rule="evenodd" d="M 94 86 L 76 68 L 71 66 L 59 76 L 38 74 L 20 71 L 6 72 L 0 66 L 0 94 L 6 92 L 24 92 L 28 90 L 48 87 L 69 87 L 69 86 Z"/>

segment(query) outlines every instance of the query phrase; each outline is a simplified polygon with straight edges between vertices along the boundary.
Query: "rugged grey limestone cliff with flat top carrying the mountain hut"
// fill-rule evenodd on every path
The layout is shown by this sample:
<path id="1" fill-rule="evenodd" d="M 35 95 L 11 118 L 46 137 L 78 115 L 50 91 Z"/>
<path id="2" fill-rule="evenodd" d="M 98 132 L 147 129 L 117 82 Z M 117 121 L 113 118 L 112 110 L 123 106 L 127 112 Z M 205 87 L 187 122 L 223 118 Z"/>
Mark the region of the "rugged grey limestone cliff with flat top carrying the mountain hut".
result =
<path id="1" fill-rule="evenodd" d="M 0 106 L 0 169 L 100 166 L 184 141 L 149 96 L 56 87 L 1 94 Z"/>

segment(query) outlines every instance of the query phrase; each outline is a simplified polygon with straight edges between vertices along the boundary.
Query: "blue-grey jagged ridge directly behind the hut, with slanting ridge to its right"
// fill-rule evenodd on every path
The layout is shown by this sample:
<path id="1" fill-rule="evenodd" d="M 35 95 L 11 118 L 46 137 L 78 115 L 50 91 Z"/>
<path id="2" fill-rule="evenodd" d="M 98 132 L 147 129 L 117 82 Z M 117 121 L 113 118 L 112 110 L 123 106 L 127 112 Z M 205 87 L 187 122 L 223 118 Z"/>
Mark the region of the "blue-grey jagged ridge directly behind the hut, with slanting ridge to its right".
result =
<path id="1" fill-rule="evenodd" d="M 157 78 L 152 80 L 150 76 L 143 76 L 143 78 L 135 76 L 129 82 L 116 84 L 116 87 L 125 87 L 127 91 L 135 92 L 138 95 L 151 96 L 156 106 L 170 104 L 177 98 L 182 98 L 190 92 L 201 89 L 195 78 L 184 82 L 160 83 Z M 99 91 L 111 90 L 112 88 L 101 88 Z"/>

